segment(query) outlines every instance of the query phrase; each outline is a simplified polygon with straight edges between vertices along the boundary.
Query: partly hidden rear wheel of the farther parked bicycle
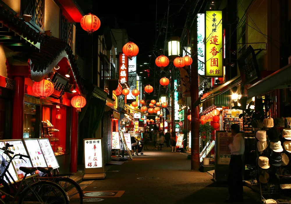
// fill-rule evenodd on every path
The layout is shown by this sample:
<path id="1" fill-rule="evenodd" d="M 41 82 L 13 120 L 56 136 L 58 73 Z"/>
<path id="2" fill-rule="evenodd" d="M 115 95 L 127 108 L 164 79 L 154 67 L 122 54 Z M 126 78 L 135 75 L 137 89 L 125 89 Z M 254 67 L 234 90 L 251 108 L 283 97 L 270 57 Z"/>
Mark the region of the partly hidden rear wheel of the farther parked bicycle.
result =
<path id="1" fill-rule="evenodd" d="M 70 178 L 59 177 L 54 179 L 54 182 L 65 189 L 70 198 L 70 203 L 83 203 L 83 190 L 76 181 Z"/>

